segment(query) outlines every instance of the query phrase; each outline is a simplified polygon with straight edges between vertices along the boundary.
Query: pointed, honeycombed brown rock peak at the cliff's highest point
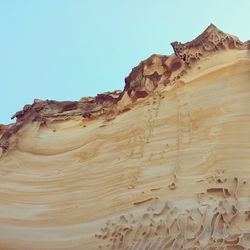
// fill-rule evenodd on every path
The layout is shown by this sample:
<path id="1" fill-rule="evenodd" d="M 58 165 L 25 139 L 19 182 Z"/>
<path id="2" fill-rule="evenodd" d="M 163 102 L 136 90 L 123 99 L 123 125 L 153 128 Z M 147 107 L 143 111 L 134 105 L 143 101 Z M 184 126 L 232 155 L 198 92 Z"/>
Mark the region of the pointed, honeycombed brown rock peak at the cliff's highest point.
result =
<path id="1" fill-rule="evenodd" d="M 171 45 L 176 56 L 188 65 L 202 56 L 219 50 L 243 48 L 243 43 L 236 36 L 222 32 L 214 24 L 210 24 L 201 35 L 191 42 L 173 42 Z"/>

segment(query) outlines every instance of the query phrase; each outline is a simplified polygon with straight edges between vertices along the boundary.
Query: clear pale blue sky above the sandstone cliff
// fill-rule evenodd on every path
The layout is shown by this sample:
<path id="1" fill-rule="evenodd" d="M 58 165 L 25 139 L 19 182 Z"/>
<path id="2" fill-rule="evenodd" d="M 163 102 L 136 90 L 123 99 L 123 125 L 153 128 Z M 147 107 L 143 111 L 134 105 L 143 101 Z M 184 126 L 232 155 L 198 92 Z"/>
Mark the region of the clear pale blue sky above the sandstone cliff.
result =
<path id="1" fill-rule="evenodd" d="M 0 123 L 34 98 L 123 89 L 132 67 L 210 23 L 250 39 L 249 0 L 0 0 Z"/>

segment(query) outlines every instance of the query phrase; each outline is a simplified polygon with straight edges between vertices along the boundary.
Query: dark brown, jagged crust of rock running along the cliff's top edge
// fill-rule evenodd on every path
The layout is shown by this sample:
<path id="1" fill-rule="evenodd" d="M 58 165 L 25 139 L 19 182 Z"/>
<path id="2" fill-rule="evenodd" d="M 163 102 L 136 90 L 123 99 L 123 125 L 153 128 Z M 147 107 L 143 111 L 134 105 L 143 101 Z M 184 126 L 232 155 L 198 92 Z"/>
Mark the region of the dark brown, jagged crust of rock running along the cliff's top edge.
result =
<path id="1" fill-rule="evenodd" d="M 14 131 L 18 131 L 29 122 L 40 122 L 45 125 L 48 120 L 67 120 L 82 116 L 86 119 L 114 117 L 130 110 L 138 99 L 164 89 L 167 85 L 179 81 L 190 70 L 191 64 L 203 57 L 226 50 L 248 50 L 249 41 L 242 43 L 237 37 L 228 35 L 211 24 L 200 36 L 191 42 L 173 42 L 175 54 L 171 56 L 152 55 L 142 61 L 125 78 L 123 91 L 106 92 L 96 97 L 83 97 L 79 102 L 35 99 L 32 105 L 27 104 L 23 110 L 12 116 L 16 118 Z M 110 119 L 110 118 L 108 118 Z M 6 131 L 7 132 L 7 131 Z M 12 132 L 7 132 L 7 136 Z M 15 141 L 15 140 L 14 140 Z M 1 140 L 0 147 L 6 152 L 9 142 Z M 2 146 L 1 146 L 2 145 Z"/>

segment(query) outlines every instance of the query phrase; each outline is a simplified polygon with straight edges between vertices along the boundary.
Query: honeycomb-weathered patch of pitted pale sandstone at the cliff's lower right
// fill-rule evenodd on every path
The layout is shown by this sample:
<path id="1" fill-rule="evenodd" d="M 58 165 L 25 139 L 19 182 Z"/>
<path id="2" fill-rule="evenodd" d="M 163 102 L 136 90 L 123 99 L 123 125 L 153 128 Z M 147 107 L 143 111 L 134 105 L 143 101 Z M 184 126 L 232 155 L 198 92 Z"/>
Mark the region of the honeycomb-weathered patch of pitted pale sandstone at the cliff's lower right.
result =
<path id="1" fill-rule="evenodd" d="M 217 196 L 213 204 L 211 193 Z M 247 249 L 250 233 L 235 231 L 234 223 L 248 224 L 249 211 L 239 210 L 235 190 L 210 188 L 197 197 L 193 207 L 152 200 L 139 215 L 108 221 L 95 238 L 104 249 Z"/>

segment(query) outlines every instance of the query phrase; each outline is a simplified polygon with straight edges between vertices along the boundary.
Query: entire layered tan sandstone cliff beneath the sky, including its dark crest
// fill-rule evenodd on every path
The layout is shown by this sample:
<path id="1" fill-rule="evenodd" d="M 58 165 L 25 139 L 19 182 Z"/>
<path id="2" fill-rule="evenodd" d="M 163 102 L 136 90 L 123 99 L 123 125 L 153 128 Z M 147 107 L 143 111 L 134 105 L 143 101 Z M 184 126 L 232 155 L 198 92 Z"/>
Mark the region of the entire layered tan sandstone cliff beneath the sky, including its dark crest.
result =
<path id="1" fill-rule="evenodd" d="M 249 249 L 249 44 L 210 25 L 1 125 L 0 249 Z"/>

